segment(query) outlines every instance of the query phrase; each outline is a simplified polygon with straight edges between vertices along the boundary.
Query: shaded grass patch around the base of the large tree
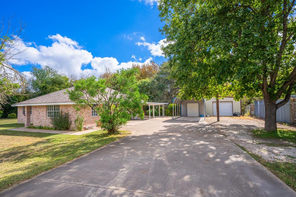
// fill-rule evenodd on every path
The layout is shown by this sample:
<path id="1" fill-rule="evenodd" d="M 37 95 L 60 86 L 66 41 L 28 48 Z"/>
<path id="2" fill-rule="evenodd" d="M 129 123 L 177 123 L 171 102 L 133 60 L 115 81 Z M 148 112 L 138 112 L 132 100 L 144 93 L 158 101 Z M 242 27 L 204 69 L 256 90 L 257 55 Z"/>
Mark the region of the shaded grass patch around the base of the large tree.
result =
<path id="1" fill-rule="evenodd" d="M 286 140 L 296 143 L 296 131 L 288 129 L 278 129 L 277 131 L 265 131 L 262 129 L 252 130 L 254 137 L 262 139 Z"/>

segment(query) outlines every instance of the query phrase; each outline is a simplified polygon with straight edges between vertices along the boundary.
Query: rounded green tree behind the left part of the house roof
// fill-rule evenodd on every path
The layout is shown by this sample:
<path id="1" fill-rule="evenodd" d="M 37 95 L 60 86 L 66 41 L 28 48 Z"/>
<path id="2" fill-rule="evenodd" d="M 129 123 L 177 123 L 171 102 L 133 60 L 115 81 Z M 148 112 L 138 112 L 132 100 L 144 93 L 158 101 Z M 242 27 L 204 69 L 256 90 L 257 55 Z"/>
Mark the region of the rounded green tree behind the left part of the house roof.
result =
<path id="1" fill-rule="evenodd" d="M 30 88 L 35 93 L 34 96 L 42 96 L 65 88 L 70 88 L 71 83 L 66 75 L 57 70 L 45 66 L 43 68 L 33 67 L 32 77 L 29 80 Z"/>

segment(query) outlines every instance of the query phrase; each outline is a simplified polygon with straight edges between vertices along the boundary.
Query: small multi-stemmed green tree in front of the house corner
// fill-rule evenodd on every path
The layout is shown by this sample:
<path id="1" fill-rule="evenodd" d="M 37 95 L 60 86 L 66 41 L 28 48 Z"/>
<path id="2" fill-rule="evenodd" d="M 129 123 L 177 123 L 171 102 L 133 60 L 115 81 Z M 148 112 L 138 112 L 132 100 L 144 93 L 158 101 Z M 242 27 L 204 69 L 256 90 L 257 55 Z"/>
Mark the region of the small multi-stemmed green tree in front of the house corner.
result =
<path id="1" fill-rule="evenodd" d="M 74 83 L 74 89 L 67 93 L 77 108 L 93 107 L 98 113 L 101 128 L 109 134 L 131 119 L 131 115 L 143 119 L 141 105 L 147 99 L 139 93 L 136 75 L 138 69 L 121 69 L 107 79 L 91 76 Z"/>

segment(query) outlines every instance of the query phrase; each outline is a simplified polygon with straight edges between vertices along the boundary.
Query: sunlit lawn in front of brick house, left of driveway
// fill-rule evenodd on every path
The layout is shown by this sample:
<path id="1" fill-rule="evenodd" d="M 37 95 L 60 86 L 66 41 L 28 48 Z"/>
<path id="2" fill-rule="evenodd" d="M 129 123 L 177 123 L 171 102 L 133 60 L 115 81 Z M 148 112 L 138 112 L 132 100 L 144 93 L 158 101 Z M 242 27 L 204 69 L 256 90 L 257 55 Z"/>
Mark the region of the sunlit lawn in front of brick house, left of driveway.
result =
<path id="1" fill-rule="evenodd" d="M 84 135 L 5 130 L 23 126 L 16 119 L 0 119 L 0 191 L 129 134 L 107 135 L 102 130 Z"/>

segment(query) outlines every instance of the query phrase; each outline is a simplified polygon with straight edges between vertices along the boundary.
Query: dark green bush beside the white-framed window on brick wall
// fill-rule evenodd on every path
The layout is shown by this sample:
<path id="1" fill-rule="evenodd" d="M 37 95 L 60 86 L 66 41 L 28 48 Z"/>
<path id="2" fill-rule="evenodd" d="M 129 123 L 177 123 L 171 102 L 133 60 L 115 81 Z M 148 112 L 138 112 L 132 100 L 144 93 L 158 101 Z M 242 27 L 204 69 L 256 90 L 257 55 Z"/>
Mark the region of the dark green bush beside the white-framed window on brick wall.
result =
<path id="1" fill-rule="evenodd" d="M 62 110 L 56 116 L 50 119 L 50 122 L 55 130 L 69 130 L 72 123 L 69 113 L 63 112 Z"/>

